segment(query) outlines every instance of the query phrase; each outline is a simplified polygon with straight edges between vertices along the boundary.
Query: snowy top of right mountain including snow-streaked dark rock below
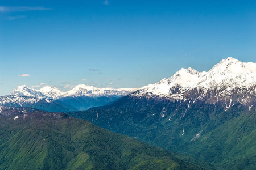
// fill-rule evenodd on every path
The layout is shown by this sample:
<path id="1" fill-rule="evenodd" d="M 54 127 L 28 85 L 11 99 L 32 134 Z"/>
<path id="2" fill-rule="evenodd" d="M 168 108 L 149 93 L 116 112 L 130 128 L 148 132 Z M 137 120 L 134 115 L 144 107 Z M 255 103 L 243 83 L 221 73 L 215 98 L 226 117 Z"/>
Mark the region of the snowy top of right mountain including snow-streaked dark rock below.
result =
<path id="1" fill-rule="evenodd" d="M 171 78 L 142 87 L 131 96 L 159 96 L 170 100 L 222 101 L 224 108 L 238 102 L 252 107 L 256 102 L 256 63 L 223 59 L 208 72 L 181 69 Z"/>

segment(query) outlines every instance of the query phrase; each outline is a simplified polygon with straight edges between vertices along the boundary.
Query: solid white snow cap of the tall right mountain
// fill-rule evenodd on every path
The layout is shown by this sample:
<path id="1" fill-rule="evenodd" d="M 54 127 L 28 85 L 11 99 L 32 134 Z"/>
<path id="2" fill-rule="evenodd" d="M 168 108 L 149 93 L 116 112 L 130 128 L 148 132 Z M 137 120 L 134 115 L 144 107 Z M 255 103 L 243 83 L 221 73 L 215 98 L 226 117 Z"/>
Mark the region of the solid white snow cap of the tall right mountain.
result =
<path id="1" fill-rule="evenodd" d="M 241 62 L 228 57 L 217 63 L 208 72 L 199 72 L 191 67 L 180 69 L 171 78 L 144 86 L 133 95 L 141 96 L 151 93 L 158 96 L 175 97 L 194 88 L 200 88 L 203 92 L 207 92 L 209 89 L 250 88 L 255 84 L 256 63 Z"/>

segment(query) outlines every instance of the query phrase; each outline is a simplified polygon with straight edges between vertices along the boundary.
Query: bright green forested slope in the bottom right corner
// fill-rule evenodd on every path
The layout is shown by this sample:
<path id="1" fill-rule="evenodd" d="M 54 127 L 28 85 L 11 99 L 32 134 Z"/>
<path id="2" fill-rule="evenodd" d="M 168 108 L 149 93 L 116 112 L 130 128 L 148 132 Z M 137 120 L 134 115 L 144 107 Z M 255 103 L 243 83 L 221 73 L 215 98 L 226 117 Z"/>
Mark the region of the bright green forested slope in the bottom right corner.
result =
<path id="1" fill-rule="evenodd" d="M 256 169 L 256 112 L 245 112 L 185 147 L 219 169 Z"/>

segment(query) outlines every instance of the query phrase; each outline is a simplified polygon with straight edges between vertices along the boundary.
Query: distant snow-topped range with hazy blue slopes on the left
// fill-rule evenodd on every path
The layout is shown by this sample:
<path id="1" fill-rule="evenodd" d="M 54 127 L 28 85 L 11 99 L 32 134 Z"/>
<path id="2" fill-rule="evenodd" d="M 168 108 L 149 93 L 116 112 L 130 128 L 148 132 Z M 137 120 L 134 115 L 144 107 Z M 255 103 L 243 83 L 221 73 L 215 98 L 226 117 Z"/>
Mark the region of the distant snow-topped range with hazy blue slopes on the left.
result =
<path id="1" fill-rule="evenodd" d="M 12 107 L 34 107 L 48 112 L 82 111 L 106 105 L 137 88 L 97 88 L 80 84 L 67 92 L 53 86 L 40 90 L 26 85 L 18 86 L 10 95 L 0 96 L 0 105 Z"/>

